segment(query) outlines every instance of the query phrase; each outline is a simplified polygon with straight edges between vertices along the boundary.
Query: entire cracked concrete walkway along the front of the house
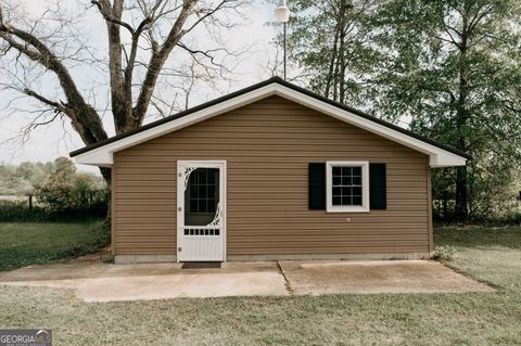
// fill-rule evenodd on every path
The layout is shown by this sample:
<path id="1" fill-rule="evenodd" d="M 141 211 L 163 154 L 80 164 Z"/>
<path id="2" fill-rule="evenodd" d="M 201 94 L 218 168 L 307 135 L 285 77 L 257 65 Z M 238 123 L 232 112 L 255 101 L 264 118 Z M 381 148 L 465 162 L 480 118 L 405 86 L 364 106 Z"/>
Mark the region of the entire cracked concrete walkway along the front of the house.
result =
<path id="1" fill-rule="evenodd" d="M 428 260 L 225 262 L 220 268 L 80 260 L 2 272 L 0 284 L 71 289 L 85 302 L 494 291 Z"/>

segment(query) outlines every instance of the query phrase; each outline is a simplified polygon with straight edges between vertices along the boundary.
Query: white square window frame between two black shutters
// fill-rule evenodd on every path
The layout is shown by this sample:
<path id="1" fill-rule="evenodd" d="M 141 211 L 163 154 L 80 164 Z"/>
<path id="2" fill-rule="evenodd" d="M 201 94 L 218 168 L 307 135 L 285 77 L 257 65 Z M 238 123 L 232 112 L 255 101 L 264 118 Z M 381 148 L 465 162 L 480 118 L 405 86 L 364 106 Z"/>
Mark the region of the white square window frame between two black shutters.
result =
<path id="1" fill-rule="evenodd" d="M 333 205 L 333 166 L 361 167 L 361 206 Z M 326 205 L 328 213 L 368 213 L 369 212 L 369 162 L 368 161 L 328 161 L 326 162 Z"/>

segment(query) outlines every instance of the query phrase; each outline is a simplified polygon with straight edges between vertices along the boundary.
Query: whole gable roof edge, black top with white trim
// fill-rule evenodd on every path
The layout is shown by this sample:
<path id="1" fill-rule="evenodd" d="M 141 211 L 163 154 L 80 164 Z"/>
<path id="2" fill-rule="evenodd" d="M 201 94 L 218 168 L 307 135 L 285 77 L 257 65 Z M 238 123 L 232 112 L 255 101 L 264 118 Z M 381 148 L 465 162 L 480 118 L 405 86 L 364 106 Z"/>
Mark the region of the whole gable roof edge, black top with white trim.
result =
<path id="1" fill-rule="evenodd" d="M 111 166 L 113 153 L 153 138 L 176 131 L 216 115 L 239 108 L 270 95 L 279 95 L 304 106 L 328 114 L 394 142 L 409 146 L 430 156 L 433 167 L 462 166 L 471 157 L 456 149 L 417 134 L 372 115 L 323 98 L 279 77 L 272 77 L 251 87 L 229 93 L 213 101 L 186 110 L 173 116 L 147 124 L 139 129 L 117 134 L 104 141 L 71 152 L 78 164 Z"/>

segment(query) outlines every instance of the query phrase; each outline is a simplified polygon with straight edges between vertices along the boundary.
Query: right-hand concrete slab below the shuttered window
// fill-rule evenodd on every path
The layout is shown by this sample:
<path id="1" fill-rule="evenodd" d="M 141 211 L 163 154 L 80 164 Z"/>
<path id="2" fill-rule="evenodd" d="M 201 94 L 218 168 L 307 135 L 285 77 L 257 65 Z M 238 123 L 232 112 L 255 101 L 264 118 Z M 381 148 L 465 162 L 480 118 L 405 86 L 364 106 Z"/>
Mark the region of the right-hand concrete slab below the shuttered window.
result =
<path id="1" fill-rule="evenodd" d="M 495 291 L 432 260 L 281 261 L 294 294 Z"/>

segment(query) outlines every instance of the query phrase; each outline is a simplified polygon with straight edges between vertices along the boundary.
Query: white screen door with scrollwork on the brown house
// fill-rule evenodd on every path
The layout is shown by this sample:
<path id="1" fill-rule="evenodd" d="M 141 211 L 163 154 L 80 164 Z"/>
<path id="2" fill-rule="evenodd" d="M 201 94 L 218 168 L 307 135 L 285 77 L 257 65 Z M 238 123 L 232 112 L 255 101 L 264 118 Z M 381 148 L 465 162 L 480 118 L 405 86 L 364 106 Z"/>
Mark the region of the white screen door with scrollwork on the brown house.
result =
<path id="1" fill-rule="evenodd" d="M 177 261 L 226 260 L 226 162 L 177 162 Z"/>

